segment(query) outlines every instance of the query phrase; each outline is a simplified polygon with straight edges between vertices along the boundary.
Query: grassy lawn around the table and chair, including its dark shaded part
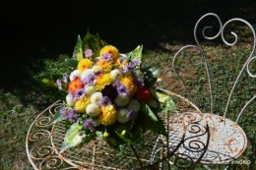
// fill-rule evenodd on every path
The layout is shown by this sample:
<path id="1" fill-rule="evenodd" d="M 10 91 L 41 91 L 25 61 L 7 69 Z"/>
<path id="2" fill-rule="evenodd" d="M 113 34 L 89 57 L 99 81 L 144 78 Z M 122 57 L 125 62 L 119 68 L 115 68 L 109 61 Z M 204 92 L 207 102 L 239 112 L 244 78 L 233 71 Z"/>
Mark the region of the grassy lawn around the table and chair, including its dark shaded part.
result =
<path id="1" fill-rule="evenodd" d="M 0 167 L 2 169 L 32 169 L 26 155 L 27 131 L 36 115 L 56 100 L 46 95 L 34 81 L 37 75 L 61 73 L 56 69 L 60 61 L 72 55 L 78 34 L 84 36 L 87 29 L 98 33 L 119 51 L 128 52 L 137 45 L 144 45 L 148 56 L 147 66 L 160 66 L 159 83 L 163 88 L 182 93 L 184 87 L 177 81 L 171 61 L 177 50 L 186 44 L 195 44 L 193 28 L 206 13 L 218 14 L 223 23 L 232 18 L 242 18 L 256 28 L 256 3 L 237 0 L 160 1 L 160 2 L 1 2 L 1 50 L 0 50 Z M 207 24 L 207 23 L 206 23 Z M 210 24 L 218 26 L 216 20 Z M 227 47 L 217 39 L 207 42 L 200 37 L 211 63 L 213 75 L 215 112 L 224 112 L 228 90 L 239 72 L 241 64 L 252 49 L 248 29 L 234 25 L 239 30 L 241 43 Z M 245 30 L 245 31 L 244 31 Z M 193 51 L 188 51 L 188 54 Z M 184 57 L 187 54 L 182 54 Z M 186 80 L 191 85 L 196 103 L 208 111 L 207 84 L 202 78 L 202 68 L 186 69 L 187 60 L 178 62 L 189 73 Z M 252 63 L 253 66 L 256 66 Z M 185 68 L 185 70 L 184 70 Z M 217 72 L 214 72 L 214 71 Z M 191 78 L 197 78 L 192 80 Z M 239 82 L 240 92 L 227 115 L 235 120 L 244 99 L 255 94 L 255 80 L 248 81 L 246 74 Z M 227 83 L 227 84 L 226 84 Z M 194 86 L 194 88 L 192 88 Z M 197 92 L 201 93 L 197 93 Z M 199 96 L 199 97 L 198 97 Z M 248 148 L 241 159 L 251 160 L 248 165 L 233 165 L 232 169 L 255 168 L 256 118 L 253 104 L 238 124 L 248 137 Z M 214 166 L 214 165 L 213 165 Z M 240 167 L 241 166 L 241 167 Z M 1 169 L 0 168 L 0 169 Z M 197 168 L 202 168 L 201 166 Z M 213 169 L 222 169 L 214 166 Z"/>

